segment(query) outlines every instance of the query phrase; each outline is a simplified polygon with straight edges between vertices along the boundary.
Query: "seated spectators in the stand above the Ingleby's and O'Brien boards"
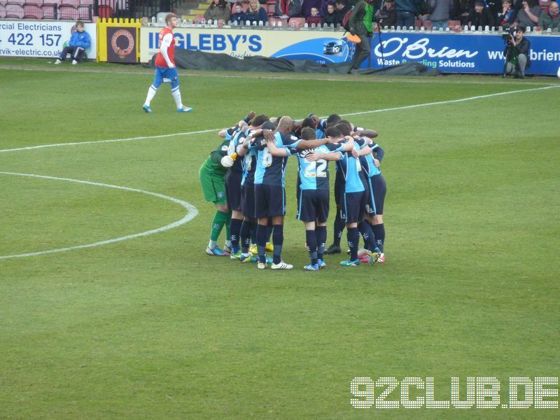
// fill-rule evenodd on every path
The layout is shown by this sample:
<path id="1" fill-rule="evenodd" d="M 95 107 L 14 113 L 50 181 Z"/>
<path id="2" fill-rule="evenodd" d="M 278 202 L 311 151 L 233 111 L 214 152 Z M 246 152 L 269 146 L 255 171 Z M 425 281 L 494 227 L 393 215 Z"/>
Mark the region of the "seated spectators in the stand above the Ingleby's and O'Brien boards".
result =
<path id="1" fill-rule="evenodd" d="M 290 20 L 308 27 L 342 25 L 346 12 L 362 0 L 214 0 L 205 20 L 266 25 Z M 559 7 L 547 0 L 374 0 L 375 10 L 384 10 L 381 27 L 431 27 L 445 30 L 461 27 L 522 26 L 529 29 L 560 29 Z M 298 23 L 298 25 L 299 25 Z M 291 25 L 291 24 L 290 24 Z M 303 25 L 302 25 L 303 26 Z"/>

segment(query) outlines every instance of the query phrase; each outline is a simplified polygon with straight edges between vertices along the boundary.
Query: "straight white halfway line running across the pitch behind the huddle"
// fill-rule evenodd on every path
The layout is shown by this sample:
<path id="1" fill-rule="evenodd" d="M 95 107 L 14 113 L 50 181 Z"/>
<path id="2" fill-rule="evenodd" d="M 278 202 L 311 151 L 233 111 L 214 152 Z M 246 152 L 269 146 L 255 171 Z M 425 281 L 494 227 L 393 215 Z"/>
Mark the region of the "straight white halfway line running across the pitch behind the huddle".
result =
<path id="1" fill-rule="evenodd" d="M 340 114 L 340 116 L 342 116 L 342 117 L 361 116 L 361 115 L 365 115 L 365 114 L 369 114 L 369 113 L 402 111 L 403 109 L 422 108 L 423 106 L 455 104 L 455 103 L 458 103 L 458 102 L 474 101 L 476 99 L 486 99 L 486 98 L 491 98 L 491 97 L 498 97 L 498 96 L 503 96 L 503 95 L 506 95 L 506 94 L 534 92 L 535 90 L 555 89 L 556 87 L 560 87 L 560 85 L 545 86 L 545 87 L 533 87 L 531 89 L 508 90 L 507 92 L 482 94 L 482 95 L 478 95 L 478 96 L 475 96 L 475 97 L 468 97 L 468 98 L 462 98 L 462 99 L 449 99 L 448 101 L 426 102 L 425 104 L 395 106 L 394 108 L 373 109 L 373 110 L 370 110 L 370 111 L 344 113 L 344 114 Z M 18 151 L 31 151 L 31 150 L 35 150 L 35 149 L 51 148 L 51 147 L 59 147 L 59 146 L 79 146 L 81 144 L 118 143 L 120 141 L 139 141 L 139 140 L 148 140 L 148 139 L 162 139 L 162 138 L 165 138 L 165 137 L 190 136 L 192 134 L 204 134 L 204 133 L 218 132 L 220 130 L 223 130 L 223 128 L 214 128 L 214 129 L 211 129 L 211 130 L 200 130 L 200 131 L 194 131 L 194 132 L 184 132 L 184 133 L 174 133 L 174 134 L 160 134 L 158 136 L 129 137 L 127 139 L 92 140 L 92 141 L 76 141 L 76 142 L 73 142 L 73 143 L 43 144 L 41 146 L 28 146 L 28 147 L 20 147 L 20 148 L 12 148 L 12 149 L 3 149 L 3 150 L 0 150 L 0 153 L 18 152 Z"/>

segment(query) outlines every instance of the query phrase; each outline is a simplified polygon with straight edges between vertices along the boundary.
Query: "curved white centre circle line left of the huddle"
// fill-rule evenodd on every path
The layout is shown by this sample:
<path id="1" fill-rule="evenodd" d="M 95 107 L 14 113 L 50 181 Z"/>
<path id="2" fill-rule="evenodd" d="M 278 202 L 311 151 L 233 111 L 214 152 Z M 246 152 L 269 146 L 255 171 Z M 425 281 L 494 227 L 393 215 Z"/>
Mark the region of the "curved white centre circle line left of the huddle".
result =
<path id="1" fill-rule="evenodd" d="M 118 238 L 114 238 L 114 239 L 106 239 L 104 241 L 93 242 L 92 244 L 67 246 L 66 248 L 49 249 L 47 251 L 28 252 L 28 253 L 13 254 L 13 255 L 0 255 L 0 260 L 6 259 L 6 258 L 34 257 L 36 255 L 44 255 L 44 254 L 50 254 L 50 253 L 72 251 L 74 249 L 92 248 L 93 246 L 113 244 L 114 242 L 126 241 L 127 239 L 145 237 L 145 236 L 148 236 L 148 235 L 153 235 L 154 233 L 165 232 L 165 230 L 173 229 L 173 228 L 176 228 L 180 225 L 184 225 L 188 221 L 191 221 L 193 218 L 195 218 L 195 216 L 198 214 L 198 210 L 195 206 L 193 206 L 193 204 L 189 204 L 188 202 L 184 202 L 183 200 L 179 200 L 179 199 L 174 198 L 174 197 L 169 197 L 168 195 L 163 195 L 163 194 L 159 194 L 159 193 L 152 193 L 151 191 L 146 191 L 146 190 L 139 190 L 138 188 L 113 186 L 111 184 L 100 183 L 100 182 L 81 181 L 80 179 L 59 178 L 57 176 L 44 176 L 44 175 L 36 175 L 36 174 L 20 174 L 18 172 L 0 172 L 0 174 L 14 175 L 14 176 L 28 176 L 28 177 L 31 177 L 31 178 L 41 178 L 41 179 L 53 179 L 53 180 L 56 180 L 56 181 L 69 181 L 69 182 L 86 184 L 86 185 L 90 185 L 90 186 L 115 188 L 116 190 L 132 191 L 133 193 L 142 193 L 142 194 L 146 194 L 146 195 L 151 195 L 153 197 L 162 198 L 163 200 L 169 200 L 171 202 L 179 204 L 181 207 L 183 207 L 184 209 L 187 209 L 187 211 L 188 211 L 188 213 L 183 218 L 181 218 L 181 220 L 176 221 L 174 223 L 170 223 L 169 225 L 162 226 L 161 228 L 146 230 L 146 232 L 135 233 L 133 235 L 126 235 L 126 236 L 118 237 Z"/>

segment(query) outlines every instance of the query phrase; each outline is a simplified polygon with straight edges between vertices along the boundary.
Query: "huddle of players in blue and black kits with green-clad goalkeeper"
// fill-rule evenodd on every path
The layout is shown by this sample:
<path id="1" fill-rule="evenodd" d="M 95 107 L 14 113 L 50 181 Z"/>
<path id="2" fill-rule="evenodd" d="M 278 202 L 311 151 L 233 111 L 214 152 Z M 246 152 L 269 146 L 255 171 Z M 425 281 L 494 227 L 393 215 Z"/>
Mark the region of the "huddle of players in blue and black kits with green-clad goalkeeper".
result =
<path id="1" fill-rule="evenodd" d="M 321 119 L 314 114 L 294 121 L 249 113 L 235 127 L 222 130 L 223 141 L 200 168 L 204 199 L 214 202 L 209 255 L 257 262 L 259 269 L 291 269 L 281 259 L 283 218 L 286 216 L 284 176 L 288 158 L 297 158 L 297 219 L 305 226 L 309 271 L 325 268 L 325 254 L 341 253 L 346 227 L 349 259 L 385 262 L 383 206 L 386 183 L 379 165 L 384 151 L 373 141 L 374 130 L 354 127 L 337 114 Z M 333 244 L 325 249 L 330 208 L 328 162 L 336 162 Z M 223 249 L 217 246 L 225 225 Z M 364 246 L 358 249 L 360 235 Z M 272 236 L 272 242 L 271 242 Z M 269 258 L 267 251 L 272 251 Z M 256 256 L 255 256 L 256 255 Z"/>

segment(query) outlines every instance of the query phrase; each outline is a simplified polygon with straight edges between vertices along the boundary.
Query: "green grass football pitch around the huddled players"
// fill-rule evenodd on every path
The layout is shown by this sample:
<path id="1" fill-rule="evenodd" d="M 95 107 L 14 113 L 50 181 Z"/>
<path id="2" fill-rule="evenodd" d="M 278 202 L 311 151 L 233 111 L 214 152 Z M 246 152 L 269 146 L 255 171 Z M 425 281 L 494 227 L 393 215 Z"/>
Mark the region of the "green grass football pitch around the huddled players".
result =
<path id="1" fill-rule="evenodd" d="M 179 71 L 146 114 L 151 69 L 47 61 L 0 59 L 1 419 L 558 418 L 559 79 Z M 294 269 L 206 255 L 248 111 L 379 132 L 385 264 L 304 272 L 293 158 Z"/>

